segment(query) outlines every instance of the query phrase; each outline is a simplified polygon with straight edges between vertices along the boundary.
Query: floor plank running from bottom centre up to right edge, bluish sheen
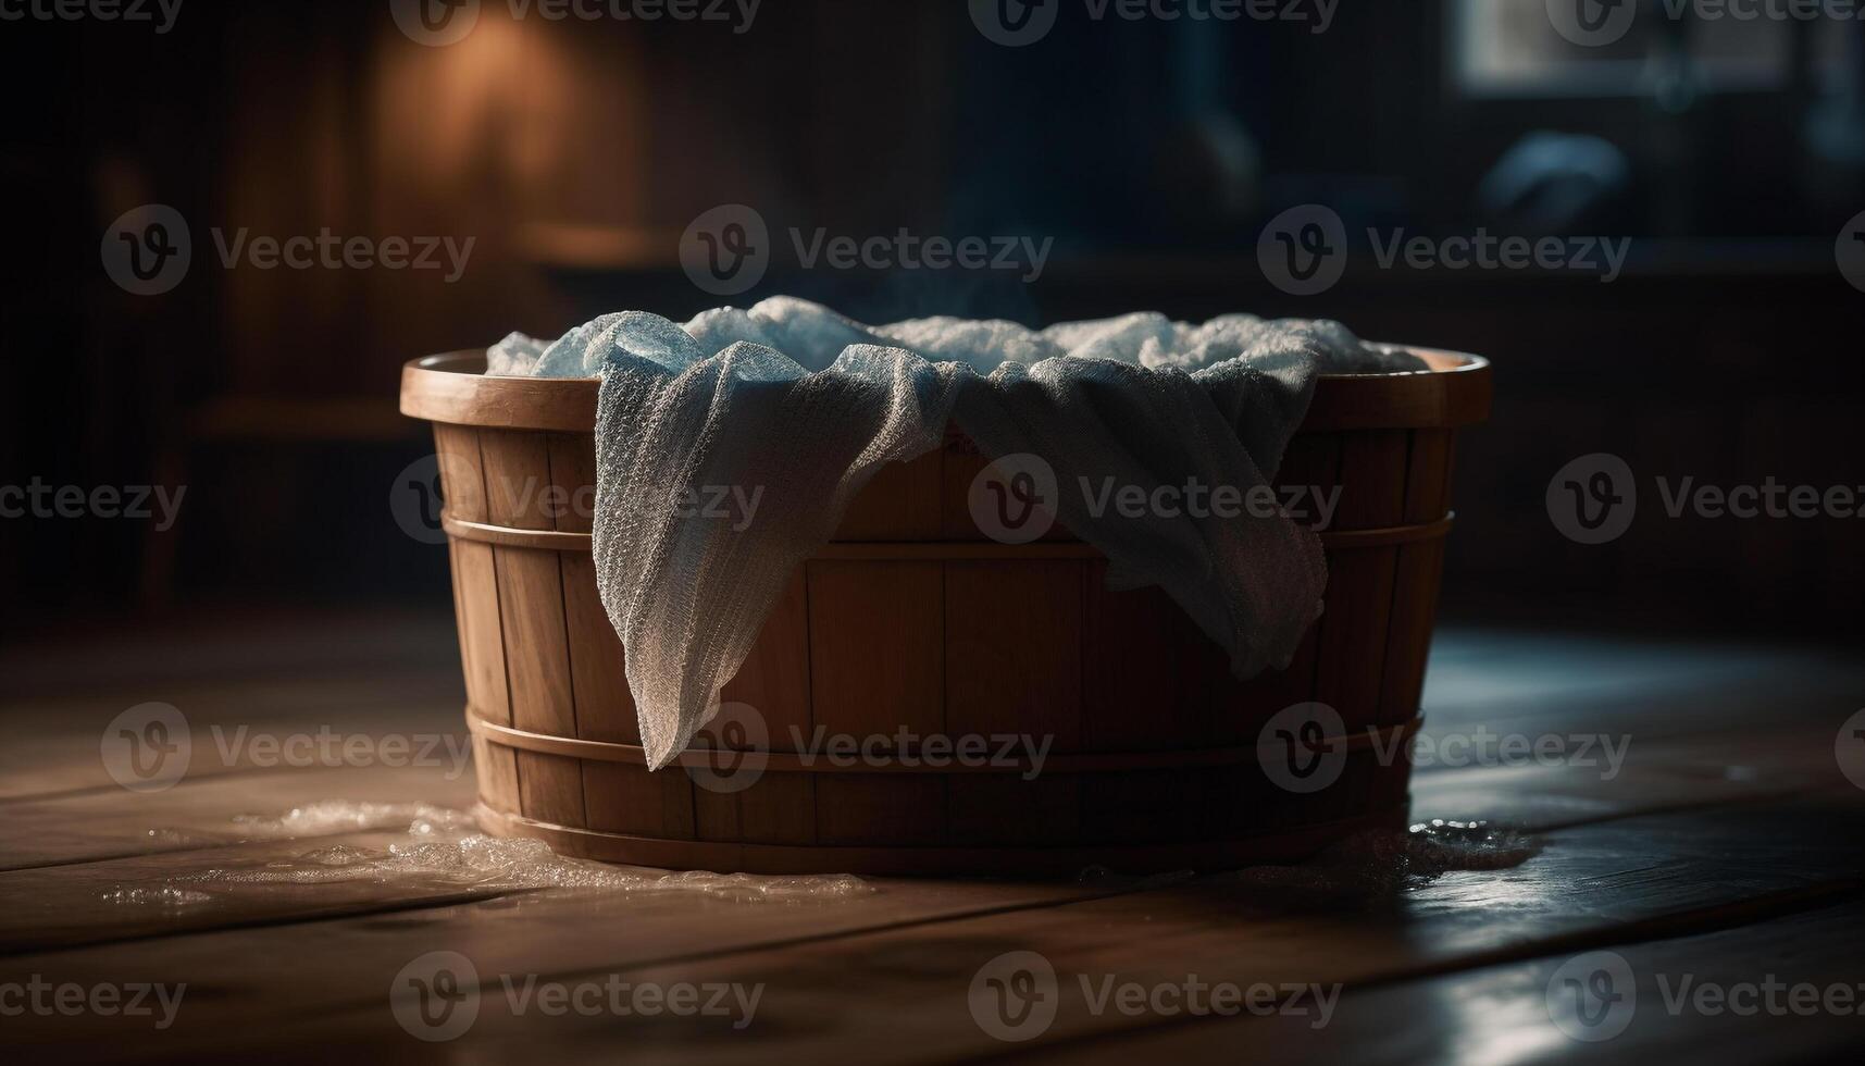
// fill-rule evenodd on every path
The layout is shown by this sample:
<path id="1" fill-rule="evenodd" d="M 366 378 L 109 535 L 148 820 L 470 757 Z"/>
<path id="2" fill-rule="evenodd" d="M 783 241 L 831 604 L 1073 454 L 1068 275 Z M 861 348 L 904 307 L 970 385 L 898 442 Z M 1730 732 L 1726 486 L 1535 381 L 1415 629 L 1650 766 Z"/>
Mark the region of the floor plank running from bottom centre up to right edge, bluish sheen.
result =
<path id="1" fill-rule="evenodd" d="M 1858 896 L 1865 889 L 1861 836 L 1856 805 L 1841 812 L 1772 807 L 1734 820 L 1721 812 L 1660 816 L 1557 833 L 1520 870 L 1453 874 L 1397 900 L 1330 898 L 1307 872 L 1296 872 L 1283 891 L 1255 877 L 1233 885 L 1207 879 L 856 943 L 630 971 L 638 982 L 763 986 L 755 1042 L 629 1017 L 515 1016 L 498 995 L 481 1001 L 472 1040 L 476 1053 L 550 1047 L 569 1059 L 591 1059 L 627 1040 L 649 1057 L 705 1062 L 837 1055 L 968 1060 L 1005 1049 L 975 1021 L 972 982 L 1005 952 L 1037 952 L 1057 975 L 1059 1004 L 1039 1042 L 1093 1045 L 1158 1019 L 1091 1012 L 1078 984 L 1084 975 L 1091 988 L 1104 980 L 1182 986 L 1195 976 L 1207 984 L 1339 982 L 1352 989 L 1539 958 L 1576 943 L 1637 941 L 1658 935 L 1654 930 L 1673 935 L 1678 917 L 1708 928 L 1740 926 L 1809 902 Z M 1731 848 L 1744 848 L 1753 868 L 1733 866 Z M 367 1014 L 354 1021 L 366 1025 Z M 384 1047 L 397 1036 L 379 1027 Z"/>

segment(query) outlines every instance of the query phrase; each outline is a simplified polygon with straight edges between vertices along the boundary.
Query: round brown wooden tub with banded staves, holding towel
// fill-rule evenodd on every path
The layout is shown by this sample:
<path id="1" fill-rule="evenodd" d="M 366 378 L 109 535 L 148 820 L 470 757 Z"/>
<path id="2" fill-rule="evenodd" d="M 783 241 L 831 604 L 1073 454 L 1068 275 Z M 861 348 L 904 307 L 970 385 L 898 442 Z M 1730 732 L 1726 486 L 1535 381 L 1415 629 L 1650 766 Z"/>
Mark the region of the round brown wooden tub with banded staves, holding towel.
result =
<path id="1" fill-rule="evenodd" d="M 987 461 L 953 433 L 854 500 L 725 713 L 658 773 L 589 554 L 597 383 L 410 362 L 481 825 L 647 866 L 1072 874 L 1289 861 L 1402 823 L 1457 429 L 1490 403 L 1485 360 L 1414 351 L 1432 373 L 1324 377 L 1276 478 L 1339 487 L 1326 614 L 1287 670 L 1235 681 L 1177 605 L 1108 592 L 1106 560 L 1059 526 L 988 540 L 966 502 Z M 828 758 L 847 745 L 865 758 Z"/>

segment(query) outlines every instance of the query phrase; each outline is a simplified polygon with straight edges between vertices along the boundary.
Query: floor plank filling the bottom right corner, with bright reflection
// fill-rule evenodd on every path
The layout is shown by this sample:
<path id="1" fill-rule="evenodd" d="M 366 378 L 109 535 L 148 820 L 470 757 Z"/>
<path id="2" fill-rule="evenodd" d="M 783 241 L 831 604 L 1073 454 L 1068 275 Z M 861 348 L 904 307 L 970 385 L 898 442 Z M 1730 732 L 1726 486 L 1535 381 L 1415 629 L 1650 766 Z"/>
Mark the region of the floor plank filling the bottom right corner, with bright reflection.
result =
<path id="1" fill-rule="evenodd" d="M 1552 954 L 1438 978 L 1348 991 L 1326 1025 L 1291 1014 L 1186 1017 L 1085 1045 L 1011 1053 L 1018 1062 L 1841 1062 L 1865 1047 L 1865 904 L 1733 930 L 1615 945 L 1624 971 L 1587 1003 L 1565 986 L 1593 952 Z M 1574 965 L 1570 965 L 1574 963 Z M 1565 967 L 1565 969 L 1563 969 Z M 1604 967 L 1602 967 L 1604 969 Z M 1630 975 L 1630 982 L 1623 980 Z M 1686 986 L 1688 982 L 1688 986 Z M 1764 982 L 1785 986 L 1768 999 Z M 1550 988 L 1554 1006 L 1550 1006 Z M 1688 991 L 1684 991 L 1688 988 Z M 1721 1004 L 1710 991 L 1734 989 Z M 1796 988 L 1809 989 L 1796 993 Z M 1800 995 L 1800 1003 L 1794 1001 Z M 1753 997 L 1753 999 L 1749 999 Z M 1753 1003 L 1753 1008 L 1749 1006 Z M 1839 1010 L 1835 1010 L 1835 1006 Z"/>

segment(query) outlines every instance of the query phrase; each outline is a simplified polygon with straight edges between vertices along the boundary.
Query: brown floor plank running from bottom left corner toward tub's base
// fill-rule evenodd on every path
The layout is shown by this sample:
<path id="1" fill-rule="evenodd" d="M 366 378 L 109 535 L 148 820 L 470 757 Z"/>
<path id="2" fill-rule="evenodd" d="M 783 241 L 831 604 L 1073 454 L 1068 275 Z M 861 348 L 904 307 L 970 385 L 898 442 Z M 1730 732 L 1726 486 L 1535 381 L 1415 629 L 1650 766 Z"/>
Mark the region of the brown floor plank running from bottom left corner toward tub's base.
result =
<path id="1" fill-rule="evenodd" d="M 7 1040 L 119 1060 L 198 1059 L 233 1040 L 235 1029 L 274 1027 L 285 1016 L 369 1014 L 367 1004 L 386 1003 L 395 973 L 431 950 L 463 952 L 489 973 L 602 971 L 1048 907 L 1130 885 L 875 879 L 871 887 L 867 894 L 787 900 L 541 891 L 9 956 L 0 958 L 0 984 L 32 976 L 86 988 L 186 984 L 196 1001 L 157 1036 L 131 1019 L 24 1017 L 9 1019 Z M 287 1040 L 274 1053 L 289 1059 L 302 1045 Z M 420 1044 L 405 1051 L 420 1051 Z"/>

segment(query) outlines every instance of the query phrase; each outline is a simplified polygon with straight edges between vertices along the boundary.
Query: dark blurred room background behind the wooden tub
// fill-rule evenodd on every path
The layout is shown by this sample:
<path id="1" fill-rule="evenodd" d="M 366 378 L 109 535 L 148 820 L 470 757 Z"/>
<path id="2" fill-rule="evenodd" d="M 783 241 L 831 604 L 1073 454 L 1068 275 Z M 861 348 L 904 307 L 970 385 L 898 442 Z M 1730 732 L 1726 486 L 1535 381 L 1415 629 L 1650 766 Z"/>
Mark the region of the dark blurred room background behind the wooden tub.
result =
<path id="1" fill-rule="evenodd" d="M 1496 364 L 1458 456 L 1445 612 L 1658 631 L 1861 629 L 1865 521 L 1678 519 L 1651 478 L 1865 485 L 1865 293 L 1835 241 L 1865 211 L 1865 22 L 1669 22 L 1568 47 L 1542 0 L 1341 0 L 1283 21 L 1091 21 L 985 39 L 960 0 L 765 0 L 716 22 L 513 21 L 449 47 L 388 0 L 185 2 L 147 24 L 0 24 L 7 90 L 0 484 L 186 485 L 181 523 L 0 519 L 0 627 L 252 603 L 444 609 L 446 551 L 397 528 L 431 452 L 407 358 L 556 336 L 604 310 L 684 319 L 796 293 L 869 319 L 1044 325 L 1126 310 L 1337 317 Z M 1475 73 L 1473 73 L 1475 71 Z M 1563 142 L 1513 187 L 1524 138 Z M 1582 146 L 1582 147 L 1572 147 Z M 192 228 L 173 291 L 99 245 L 123 211 Z M 679 267 L 722 203 L 772 231 L 1054 237 L 1033 284 L 804 271 L 724 301 Z M 1291 297 L 1257 265 L 1285 207 L 1455 235 L 1632 237 L 1611 284 L 1378 269 Z M 464 276 L 222 269 L 209 228 L 472 235 Z M 1363 245 L 1363 243 L 1361 243 Z M 1544 491 L 1623 456 L 1632 530 L 1582 547 Z"/>

